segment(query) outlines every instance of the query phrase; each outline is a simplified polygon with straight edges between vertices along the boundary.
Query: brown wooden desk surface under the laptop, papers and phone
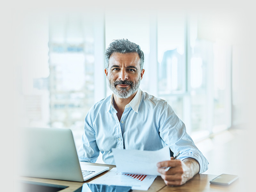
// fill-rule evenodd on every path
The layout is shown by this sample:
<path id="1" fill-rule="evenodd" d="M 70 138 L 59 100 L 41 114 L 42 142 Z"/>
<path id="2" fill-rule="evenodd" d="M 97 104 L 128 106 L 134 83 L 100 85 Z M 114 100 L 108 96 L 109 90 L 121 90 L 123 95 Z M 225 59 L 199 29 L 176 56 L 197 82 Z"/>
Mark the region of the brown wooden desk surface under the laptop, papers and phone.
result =
<path id="1" fill-rule="evenodd" d="M 106 166 L 106 164 L 92 164 L 88 163 L 89 165 L 100 165 L 100 166 Z M 115 167 L 115 165 L 108 165 L 110 169 Z M 100 177 L 101 175 L 105 174 L 106 172 L 101 173 L 100 175 L 87 180 L 85 182 L 89 182 L 95 178 Z M 232 183 L 230 186 L 219 186 L 219 185 L 213 185 L 210 184 L 210 180 L 215 178 L 217 175 L 207 175 L 207 174 L 196 174 L 191 180 L 187 181 L 182 186 L 177 187 L 170 187 L 166 186 L 163 179 L 160 176 L 157 176 L 153 184 L 148 189 L 149 192 L 169 192 L 169 191 L 175 191 L 175 192 L 200 192 L 200 191 L 243 191 L 241 187 L 241 179 L 238 179 L 234 183 Z M 20 180 L 26 180 L 26 181 L 34 181 L 34 182 L 40 182 L 40 183 L 47 183 L 47 184 L 56 184 L 56 185 L 64 185 L 68 186 L 68 188 L 62 189 L 59 192 L 79 192 L 83 185 L 83 182 L 74 182 L 74 181 L 63 181 L 63 180 L 51 180 L 51 179 L 41 179 L 41 178 L 32 178 L 32 177 L 21 177 Z M 79 190 L 80 189 L 80 190 Z M 132 190 L 133 192 L 141 192 L 140 190 Z"/>

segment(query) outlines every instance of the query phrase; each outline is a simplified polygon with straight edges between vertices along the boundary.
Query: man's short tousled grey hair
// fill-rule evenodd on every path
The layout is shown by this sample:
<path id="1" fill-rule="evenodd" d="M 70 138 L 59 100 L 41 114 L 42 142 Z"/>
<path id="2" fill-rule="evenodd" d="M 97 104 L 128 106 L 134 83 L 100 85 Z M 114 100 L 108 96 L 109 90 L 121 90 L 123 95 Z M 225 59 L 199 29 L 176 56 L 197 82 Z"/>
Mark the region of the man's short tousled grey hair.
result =
<path id="1" fill-rule="evenodd" d="M 108 48 L 106 49 L 105 52 L 105 64 L 106 64 L 106 69 L 108 69 L 108 62 L 109 58 L 113 53 L 132 53 L 136 52 L 138 53 L 140 57 L 140 70 L 143 69 L 143 64 L 144 64 L 144 53 L 140 50 L 140 46 L 132 43 L 128 39 L 116 39 L 113 40 Z"/>

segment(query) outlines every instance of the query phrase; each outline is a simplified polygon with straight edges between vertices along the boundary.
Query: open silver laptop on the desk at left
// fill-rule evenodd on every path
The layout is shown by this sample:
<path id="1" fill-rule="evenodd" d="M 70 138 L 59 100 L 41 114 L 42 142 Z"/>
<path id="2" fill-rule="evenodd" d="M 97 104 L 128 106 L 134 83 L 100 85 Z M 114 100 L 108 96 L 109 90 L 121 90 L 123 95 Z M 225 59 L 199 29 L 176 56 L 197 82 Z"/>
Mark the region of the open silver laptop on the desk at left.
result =
<path id="1" fill-rule="evenodd" d="M 83 182 L 109 170 L 79 162 L 70 129 L 22 128 L 20 176 Z"/>

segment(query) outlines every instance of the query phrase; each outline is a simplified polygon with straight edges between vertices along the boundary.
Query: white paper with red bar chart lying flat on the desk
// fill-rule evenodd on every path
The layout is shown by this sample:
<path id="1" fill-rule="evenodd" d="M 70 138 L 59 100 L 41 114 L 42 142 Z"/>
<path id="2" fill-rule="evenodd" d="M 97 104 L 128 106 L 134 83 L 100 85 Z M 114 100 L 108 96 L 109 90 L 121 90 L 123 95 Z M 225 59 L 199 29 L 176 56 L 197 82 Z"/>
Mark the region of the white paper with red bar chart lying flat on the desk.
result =
<path id="1" fill-rule="evenodd" d="M 156 175 L 139 175 L 117 172 L 116 167 L 89 183 L 101 185 L 131 186 L 133 190 L 147 191 L 152 185 Z"/>

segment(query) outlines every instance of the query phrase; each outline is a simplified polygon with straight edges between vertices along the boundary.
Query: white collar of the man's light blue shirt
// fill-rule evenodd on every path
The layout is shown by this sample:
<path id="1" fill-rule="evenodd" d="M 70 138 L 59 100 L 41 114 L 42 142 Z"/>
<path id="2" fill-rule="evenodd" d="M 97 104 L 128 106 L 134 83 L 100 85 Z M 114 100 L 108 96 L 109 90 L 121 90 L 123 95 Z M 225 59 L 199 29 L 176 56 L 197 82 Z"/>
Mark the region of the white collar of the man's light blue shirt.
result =
<path id="1" fill-rule="evenodd" d="M 138 113 L 139 106 L 140 106 L 141 95 L 142 95 L 142 92 L 141 92 L 141 90 L 140 90 L 140 88 L 139 88 L 138 91 L 137 91 L 137 93 L 136 93 L 135 96 L 133 97 L 133 99 L 130 101 L 130 103 L 128 103 L 128 104 L 125 106 L 125 108 L 132 107 L 132 109 L 133 109 L 136 113 Z M 112 107 L 113 109 L 115 109 L 114 104 L 113 104 L 113 100 L 114 100 L 114 93 L 112 93 L 112 95 L 111 95 L 107 112 L 111 109 L 111 107 Z"/>

